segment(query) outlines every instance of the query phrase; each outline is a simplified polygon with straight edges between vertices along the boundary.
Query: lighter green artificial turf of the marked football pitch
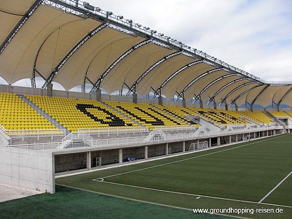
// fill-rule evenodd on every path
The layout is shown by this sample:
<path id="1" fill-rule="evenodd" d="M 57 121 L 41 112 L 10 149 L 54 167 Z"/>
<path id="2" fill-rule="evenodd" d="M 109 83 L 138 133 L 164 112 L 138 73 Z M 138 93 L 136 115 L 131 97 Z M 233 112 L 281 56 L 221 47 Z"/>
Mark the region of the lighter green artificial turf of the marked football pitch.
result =
<path id="1" fill-rule="evenodd" d="M 261 200 L 292 171 L 291 154 L 292 135 L 273 136 L 234 146 L 59 178 L 56 179 L 56 183 L 188 209 L 229 207 L 276 209 L 277 205 L 285 205 L 288 207 L 281 207 L 284 214 L 239 216 L 264 219 L 291 218 L 292 208 L 289 206 L 292 206 L 290 195 L 292 176 L 262 201 L 275 206 L 252 203 Z M 115 174 L 120 175 L 112 176 Z M 104 181 L 92 180 L 96 178 L 104 178 Z M 199 196 L 201 198 L 197 199 Z"/>

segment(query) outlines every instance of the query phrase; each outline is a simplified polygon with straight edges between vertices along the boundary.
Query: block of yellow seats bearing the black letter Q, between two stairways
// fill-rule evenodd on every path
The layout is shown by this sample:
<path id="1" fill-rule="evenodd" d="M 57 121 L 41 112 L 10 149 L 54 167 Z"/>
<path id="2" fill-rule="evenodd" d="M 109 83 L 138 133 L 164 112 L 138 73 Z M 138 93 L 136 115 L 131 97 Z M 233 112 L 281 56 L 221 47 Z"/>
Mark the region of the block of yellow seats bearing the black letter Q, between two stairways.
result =
<path id="1" fill-rule="evenodd" d="M 27 98 L 71 131 L 77 131 L 79 128 L 137 126 L 96 100 L 34 95 L 27 95 Z"/>

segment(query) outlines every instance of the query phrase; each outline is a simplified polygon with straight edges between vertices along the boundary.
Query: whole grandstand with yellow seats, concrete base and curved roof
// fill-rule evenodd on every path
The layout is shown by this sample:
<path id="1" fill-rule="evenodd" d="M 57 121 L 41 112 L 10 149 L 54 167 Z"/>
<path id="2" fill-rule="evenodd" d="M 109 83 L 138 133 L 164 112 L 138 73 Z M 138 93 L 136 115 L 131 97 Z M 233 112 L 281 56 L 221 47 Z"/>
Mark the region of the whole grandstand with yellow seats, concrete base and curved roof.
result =
<path id="1" fill-rule="evenodd" d="M 55 193 L 57 175 L 291 133 L 292 82 L 79 0 L 1 1 L 0 18 L 0 183 Z"/>

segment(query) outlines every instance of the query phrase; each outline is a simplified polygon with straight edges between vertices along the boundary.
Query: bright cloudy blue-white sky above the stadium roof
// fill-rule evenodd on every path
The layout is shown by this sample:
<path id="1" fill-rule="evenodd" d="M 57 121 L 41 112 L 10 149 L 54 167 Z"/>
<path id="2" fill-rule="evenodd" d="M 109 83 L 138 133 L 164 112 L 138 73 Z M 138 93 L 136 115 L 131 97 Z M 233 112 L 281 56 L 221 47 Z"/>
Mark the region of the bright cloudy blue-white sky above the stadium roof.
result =
<path id="1" fill-rule="evenodd" d="M 292 0 L 87 1 L 266 81 L 292 81 Z"/>

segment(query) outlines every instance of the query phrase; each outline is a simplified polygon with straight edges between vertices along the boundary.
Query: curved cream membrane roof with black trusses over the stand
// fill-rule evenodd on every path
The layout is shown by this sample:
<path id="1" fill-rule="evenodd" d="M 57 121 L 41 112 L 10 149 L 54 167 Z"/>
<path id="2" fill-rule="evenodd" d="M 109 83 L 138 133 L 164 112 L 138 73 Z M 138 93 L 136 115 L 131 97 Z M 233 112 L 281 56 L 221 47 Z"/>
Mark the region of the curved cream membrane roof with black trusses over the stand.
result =
<path id="1" fill-rule="evenodd" d="M 77 3 L 76 3 L 77 2 Z M 66 90 L 91 83 L 107 92 L 227 104 L 292 106 L 292 83 L 260 78 L 182 42 L 81 1 L 10 0 L 0 5 L 0 76 L 58 82 Z M 128 94 L 130 94 L 130 92 Z"/>

